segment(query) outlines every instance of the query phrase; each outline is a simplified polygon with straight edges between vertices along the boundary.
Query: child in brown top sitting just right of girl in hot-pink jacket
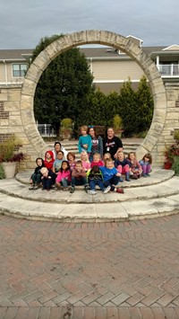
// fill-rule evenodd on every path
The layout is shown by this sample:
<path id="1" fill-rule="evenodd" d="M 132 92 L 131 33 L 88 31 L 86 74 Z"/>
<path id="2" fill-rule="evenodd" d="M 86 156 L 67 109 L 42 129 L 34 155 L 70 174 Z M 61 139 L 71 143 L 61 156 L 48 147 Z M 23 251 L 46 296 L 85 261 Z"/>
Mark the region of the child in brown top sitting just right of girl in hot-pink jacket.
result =
<path id="1" fill-rule="evenodd" d="M 88 191 L 88 182 L 87 182 L 87 173 L 82 168 L 82 162 L 77 161 L 76 166 L 72 171 L 72 188 L 71 193 L 74 192 L 75 185 L 80 186 L 84 185 L 85 191 Z"/>

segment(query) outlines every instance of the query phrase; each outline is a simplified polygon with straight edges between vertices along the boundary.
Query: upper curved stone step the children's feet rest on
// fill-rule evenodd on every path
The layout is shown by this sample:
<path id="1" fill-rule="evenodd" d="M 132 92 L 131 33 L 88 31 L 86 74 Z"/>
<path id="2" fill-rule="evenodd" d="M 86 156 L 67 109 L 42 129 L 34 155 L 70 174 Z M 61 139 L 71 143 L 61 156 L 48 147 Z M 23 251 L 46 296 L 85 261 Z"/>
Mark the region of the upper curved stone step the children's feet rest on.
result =
<path id="1" fill-rule="evenodd" d="M 160 171 L 153 173 L 148 178 L 141 177 L 140 180 L 132 182 L 121 182 L 118 187 L 124 188 L 124 194 L 110 191 L 104 194 L 98 191 L 96 196 L 91 196 L 84 192 L 83 187 L 76 187 L 76 191 L 71 194 L 69 191 L 30 191 L 29 185 L 22 184 L 16 180 L 9 180 L 5 184 L 0 181 L 0 191 L 13 197 L 21 199 L 37 200 L 38 202 L 59 202 L 59 203 L 91 203 L 91 202 L 115 202 L 130 201 L 139 199 L 155 199 L 164 196 L 171 196 L 179 193 L 179 178 L 168 173 L 161 175 Z M 166 176 L 167 175 L 167 176 Z M 166 180 L 166 177 L 169 179 Z M 77 191 L 78 190 L 78 191 Z"/>

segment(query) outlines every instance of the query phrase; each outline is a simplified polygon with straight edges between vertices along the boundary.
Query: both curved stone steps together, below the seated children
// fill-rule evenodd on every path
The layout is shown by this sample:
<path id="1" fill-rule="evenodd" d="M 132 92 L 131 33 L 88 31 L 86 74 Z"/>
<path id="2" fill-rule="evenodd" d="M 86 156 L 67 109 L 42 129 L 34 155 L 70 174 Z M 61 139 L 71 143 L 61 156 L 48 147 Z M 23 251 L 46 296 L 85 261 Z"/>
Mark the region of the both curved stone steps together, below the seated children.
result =
<path id="1" fill-rule="evenodd" d="M 120 221 L 179 212 L 179 177 L 173 171 L 154 167 L 149 178 L 120 183 L 124 194 L 83 187 L 76 191 L 29 191 L 31 171 L 14 179 L 0 180 L 0 213 L 14 217 L 71 222 Z"/>

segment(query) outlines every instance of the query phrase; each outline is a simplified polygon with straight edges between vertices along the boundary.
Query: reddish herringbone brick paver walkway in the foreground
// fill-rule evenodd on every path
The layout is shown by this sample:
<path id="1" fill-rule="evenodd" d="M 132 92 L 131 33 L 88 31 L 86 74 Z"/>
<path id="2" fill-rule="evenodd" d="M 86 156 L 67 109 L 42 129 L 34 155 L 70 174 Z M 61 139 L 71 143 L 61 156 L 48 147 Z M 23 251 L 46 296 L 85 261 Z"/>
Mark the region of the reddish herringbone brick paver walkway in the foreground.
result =
<path id="1" fill-rule="evenodd" d="M 0 220 L 0 318 L 179 318 L 179 215 Z"/>

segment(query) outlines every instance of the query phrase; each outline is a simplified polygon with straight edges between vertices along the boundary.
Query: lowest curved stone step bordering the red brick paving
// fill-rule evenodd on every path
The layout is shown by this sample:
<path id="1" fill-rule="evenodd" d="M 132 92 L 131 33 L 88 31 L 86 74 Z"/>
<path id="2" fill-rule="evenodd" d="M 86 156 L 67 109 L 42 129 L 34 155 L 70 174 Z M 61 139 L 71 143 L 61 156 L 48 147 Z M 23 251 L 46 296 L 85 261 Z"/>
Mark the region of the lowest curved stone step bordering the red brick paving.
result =
<path id="1" fill-rule="evenodd" d="M 121 194 L 119 194 L 120 196 Z M 58 222 L 119 222 L 179 213 L 179 196 L 111 203 L 56 203 L 19 199 L 0 193 L 0 213 Z"/>

